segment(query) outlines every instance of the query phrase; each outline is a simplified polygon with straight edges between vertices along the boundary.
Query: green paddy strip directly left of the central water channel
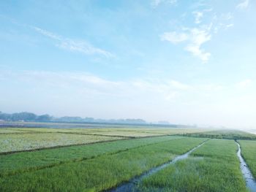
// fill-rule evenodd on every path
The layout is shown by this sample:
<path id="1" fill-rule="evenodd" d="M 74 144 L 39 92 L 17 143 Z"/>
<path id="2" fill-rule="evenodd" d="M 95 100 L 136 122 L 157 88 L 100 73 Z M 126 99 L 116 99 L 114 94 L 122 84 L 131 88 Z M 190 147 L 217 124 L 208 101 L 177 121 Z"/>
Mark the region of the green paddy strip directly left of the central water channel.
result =
<path id="1" fill-rule="evenodd" d="M 102 191 L 163 164 L 203 142 L 174 139 L 112 155 L 0 178 L 0 191 Z"/>

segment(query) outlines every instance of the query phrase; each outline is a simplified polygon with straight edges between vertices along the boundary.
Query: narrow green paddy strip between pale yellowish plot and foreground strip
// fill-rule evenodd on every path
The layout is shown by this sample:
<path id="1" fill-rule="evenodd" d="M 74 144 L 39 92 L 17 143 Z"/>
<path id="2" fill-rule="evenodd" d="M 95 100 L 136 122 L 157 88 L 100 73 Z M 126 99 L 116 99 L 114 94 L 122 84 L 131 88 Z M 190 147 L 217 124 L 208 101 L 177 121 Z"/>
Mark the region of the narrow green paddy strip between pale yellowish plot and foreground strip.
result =
<path id="1" fill-rule="evenodd" d="M 37 150 L 34 152 L 0 155 L 0 176 L 29 171 L 32 169 L 42 169 L 44 167 L 63 164 L 69 161 L 82 161 L 86 158 L 94 158 L 106 153 L 117 153 L 118 151 L 128 150 L 134 147 L 181 138 L 183 137 L 165 136 L 128 139 L 115 142 L 97 143 L 94 145 L 61 147 L 48 150 Z"/>

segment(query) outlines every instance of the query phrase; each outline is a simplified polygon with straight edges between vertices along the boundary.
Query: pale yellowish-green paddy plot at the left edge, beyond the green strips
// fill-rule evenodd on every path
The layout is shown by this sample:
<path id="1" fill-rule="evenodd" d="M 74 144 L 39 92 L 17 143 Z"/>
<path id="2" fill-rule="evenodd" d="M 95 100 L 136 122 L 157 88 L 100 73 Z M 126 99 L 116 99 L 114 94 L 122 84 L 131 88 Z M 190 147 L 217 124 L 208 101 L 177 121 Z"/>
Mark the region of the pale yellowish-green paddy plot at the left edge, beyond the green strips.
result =
<path id="1" fill-rule="evenodd" d="M 59 133 L 0 134 L 0 153 L 17 150 L 33 150 L 59 145 L 78 145 L 116 139 L 124 138 Z"/>

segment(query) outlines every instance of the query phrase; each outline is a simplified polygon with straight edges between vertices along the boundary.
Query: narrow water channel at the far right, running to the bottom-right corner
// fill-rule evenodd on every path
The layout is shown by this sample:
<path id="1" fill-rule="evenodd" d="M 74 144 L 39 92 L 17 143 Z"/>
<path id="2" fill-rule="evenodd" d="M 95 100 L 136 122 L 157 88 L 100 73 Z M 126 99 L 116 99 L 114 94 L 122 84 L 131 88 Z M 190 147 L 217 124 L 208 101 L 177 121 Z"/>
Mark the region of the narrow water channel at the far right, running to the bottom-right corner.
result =
<path id="1" fill-rule="evenodd" d="M 256 192 L 256 180 L 252 176 L 252 172 L 249 170 L 246 162 L 244 161 L 244 158 L 241 155 L 241 147 L 239 143 L 236 142 L 236 144 L 238 145 L 237 155 L 240 161 L 241 172 L 244 176 L 244 180 L 246 181 L 246 186 L 247 188 L 249 188 L 250 191 Z"/>

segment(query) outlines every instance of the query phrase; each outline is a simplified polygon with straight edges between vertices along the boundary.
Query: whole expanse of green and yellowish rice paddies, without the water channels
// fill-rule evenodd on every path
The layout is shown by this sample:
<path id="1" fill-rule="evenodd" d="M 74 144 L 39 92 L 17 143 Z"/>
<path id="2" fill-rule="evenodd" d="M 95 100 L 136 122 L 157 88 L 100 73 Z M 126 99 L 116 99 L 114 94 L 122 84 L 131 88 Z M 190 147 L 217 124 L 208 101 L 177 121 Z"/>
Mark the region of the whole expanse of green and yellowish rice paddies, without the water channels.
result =
<path id="1" fill-rule="evenodd" d="M 0 128 L 0 191 L 111 191 L 153 169 L 128 191 L 249 191 L 238 136 L 253 139 L 192 128 Z M 256 141 L 238 142 L 255 176 Z"/>

